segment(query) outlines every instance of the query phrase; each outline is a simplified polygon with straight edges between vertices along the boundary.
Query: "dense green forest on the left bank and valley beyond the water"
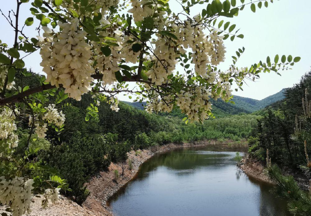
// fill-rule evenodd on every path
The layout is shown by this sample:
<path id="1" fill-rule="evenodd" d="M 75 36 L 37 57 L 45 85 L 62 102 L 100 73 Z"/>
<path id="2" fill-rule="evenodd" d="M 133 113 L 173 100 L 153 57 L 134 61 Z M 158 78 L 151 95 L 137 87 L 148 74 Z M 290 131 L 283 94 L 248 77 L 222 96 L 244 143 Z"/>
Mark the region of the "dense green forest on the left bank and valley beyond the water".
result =
<path id="1" fill-rule="evenodd" d="M 41 76 L 31 74 L 26 78 L 18 77 L 20 79 L 16 80 L 17 84 L 33 87 L 39 85 Z M 55 91 L 47 100 L 52 103 L 62 97 L 62 91 Z M 63 98 L 65 106 L 58 104 L 57 108 L 62 108 L 66 116 L 65 126 L 61 131 L 57 128 L 55 131 L 49 130 L 45 138 L 35 138 L 33 135 L 29 145 L 33 149 L 40 147 L 41 150 L 34 155 L 37 164 L 51 167 L 67 179 L 72 189 L 68 195 L 74 197 L 79 204 L 89 194 L 84 183 L 99 170 L 106 169 L 111 161 L 126 161 L 126 153 L 131 149 L 204 140 L 245 143 L 258 118 L 258 115 L 245 115 L 242 109 L 226 106 L 225 102 L 218 100 L 218 113 L 228 115 L 233 112 L 236 115 L 216 117 L 203 124 L 185 124 L 182 121 L 184 114 L 179 109 L 174 109 L 170 114 L 148 114 L 141 108 L 132 106 L 137 103 L 129 105 L 120 102 L 118 112 L 111 110 L 109 104 L 101 103 L 94 113 L 90 112 L 90 104 L 93 103 L 91 94 L 82 97 L 81 101 Z M 86 119 L 86 116 L 89 117 Z M 30 130 L 28 121 L 19 119 L 17 128 L 20 142 L 14 154 L 19 157 L 27 149 Z M 32 173 L 34 176 L 36 174 Z"/>

